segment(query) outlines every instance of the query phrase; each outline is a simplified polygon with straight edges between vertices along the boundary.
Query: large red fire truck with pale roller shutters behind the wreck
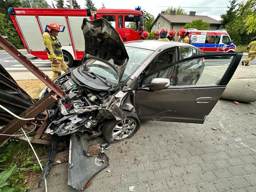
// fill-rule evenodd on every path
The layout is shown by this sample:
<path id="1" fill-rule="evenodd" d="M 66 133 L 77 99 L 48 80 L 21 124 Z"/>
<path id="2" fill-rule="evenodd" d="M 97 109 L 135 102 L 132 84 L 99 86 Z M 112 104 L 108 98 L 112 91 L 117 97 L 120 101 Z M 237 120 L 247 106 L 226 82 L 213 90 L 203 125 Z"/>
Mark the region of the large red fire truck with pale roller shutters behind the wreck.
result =
<path id="1" fill-rule="evenodd" d="M 64 61 L 72 66 L 84 53 L 83 19 L 104 18 L 115 27 L 124 42 L 139 40 L 144 30 L 143 13 L 129 9 L 99 9 L 95 14 L 89 9 L 9 8 L 8 12 L 29 54 L 48 59 L 42 34 L 51 22 L 61 26 L 58 39 L 62 44 Z M 134 26 L 135 29 L 130 27 Z"/>

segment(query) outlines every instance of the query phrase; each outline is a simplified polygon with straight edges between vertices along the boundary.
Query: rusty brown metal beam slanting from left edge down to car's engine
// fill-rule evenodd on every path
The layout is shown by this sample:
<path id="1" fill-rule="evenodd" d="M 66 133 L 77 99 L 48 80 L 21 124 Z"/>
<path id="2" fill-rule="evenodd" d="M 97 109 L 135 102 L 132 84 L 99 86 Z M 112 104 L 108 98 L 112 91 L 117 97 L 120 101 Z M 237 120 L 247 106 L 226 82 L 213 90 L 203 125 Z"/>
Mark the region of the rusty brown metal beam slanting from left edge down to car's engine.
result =
<path id="1" fill-rule="evenodd" d="M 5 40 L 0 35 L 0 46 L 19 61 L 24 67 L 29 69 L 35 76 L 37 76 L 45 85 L 47 85 L 52 91 L 58 94 L 61 98 L 65 96 L 64 91 L 59 88 L 47 75 L 44 74 L 37 66 L 35 66 L 27 57 L 22 55 L 12 44 Z"/>

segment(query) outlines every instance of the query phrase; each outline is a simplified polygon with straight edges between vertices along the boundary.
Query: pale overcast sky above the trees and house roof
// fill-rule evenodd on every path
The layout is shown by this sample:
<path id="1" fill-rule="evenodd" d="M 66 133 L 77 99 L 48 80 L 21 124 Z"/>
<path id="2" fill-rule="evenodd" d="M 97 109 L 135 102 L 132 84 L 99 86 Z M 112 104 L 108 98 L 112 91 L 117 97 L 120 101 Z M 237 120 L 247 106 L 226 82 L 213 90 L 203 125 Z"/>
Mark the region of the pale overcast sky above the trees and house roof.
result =
<path id="1" fill-rule="evenodd" d="M 64 0 L 67 1 L 67 0 Z M 49 5 L 52 5 L 52 0 L 47 0 Z M 85 0 L 77 0 L 81 8 L 85 8 Z M 126 3 L 125 3 L 126 2 Z M 143 5 L 142 2 L 147 2 Z M 123 9 L 135 9 L 136 6 L 141 6 L 142 9 L 145 9 L 147 12 L 157 17 L 158 13 L 162 9 L 168 8 L 169 6 L 173 7 L 189 7 L 184 8 L 185 12 L 196 11 L 196 15 L 207 15 L 217 20 L 221 20 L 221 13 L 225 13 L 227 10 L 227 5 L 229 0 L 164 0 L 162 4 L 160 1 L 156 0 L 147 0 L 147 1 L 138 1 L 138 0 L 93 0 L 96 8 L 101 8 L 102 3 L 105 4 L 106 8 L 123 8 Z M 197 8 L 195 8 L 197 7 Z M 204 8 L 198 8 L 204 7 Z"/>

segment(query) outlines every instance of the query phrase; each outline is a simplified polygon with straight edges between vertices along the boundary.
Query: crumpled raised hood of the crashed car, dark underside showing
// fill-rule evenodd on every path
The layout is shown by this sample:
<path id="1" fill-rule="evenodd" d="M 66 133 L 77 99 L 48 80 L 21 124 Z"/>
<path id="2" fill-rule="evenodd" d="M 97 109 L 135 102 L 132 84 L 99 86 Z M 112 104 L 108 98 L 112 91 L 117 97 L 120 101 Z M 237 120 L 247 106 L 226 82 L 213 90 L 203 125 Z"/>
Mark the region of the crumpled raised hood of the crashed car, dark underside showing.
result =
<path id="1" fill-rule="evenodd" d="M 115 67 L 118 74 L 116 88 L 119 87 L 121 76 L 125 70 L 129 56 L 125 45 L 116 29 L 106 19 L 89 21 L 84 18 L 82 24 L 86 54 L 104 59 Z"/>

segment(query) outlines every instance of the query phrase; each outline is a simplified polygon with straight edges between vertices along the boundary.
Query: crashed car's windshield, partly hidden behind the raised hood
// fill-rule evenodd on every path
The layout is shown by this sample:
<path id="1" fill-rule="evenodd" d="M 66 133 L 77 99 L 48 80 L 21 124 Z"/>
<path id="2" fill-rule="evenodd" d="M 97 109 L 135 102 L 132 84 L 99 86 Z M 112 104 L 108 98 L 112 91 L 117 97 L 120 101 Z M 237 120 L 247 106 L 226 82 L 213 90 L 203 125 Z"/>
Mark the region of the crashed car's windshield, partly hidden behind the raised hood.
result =
<path id="1" fill-rule="evenodd" d="M 125 81 L 131 74 L 133 74 L 136 69 L 142 64 L 142 62 L 150 55 L 153 51 L 146 49 L 139 49 L 135 47 L 125 47 L 129 56 L 129 61 L 126 65 L 121 81 Z M 112 59 L 108 61 L 109 64 L 113 64 Z M 99 76 L 106 77 L 108 81 L 117 83 L 118 74 L 115 69 L 113 69 L 108 64 L 97 59 L 89 59 L 85 62 L 83 71 L 93 72 Z"/>

